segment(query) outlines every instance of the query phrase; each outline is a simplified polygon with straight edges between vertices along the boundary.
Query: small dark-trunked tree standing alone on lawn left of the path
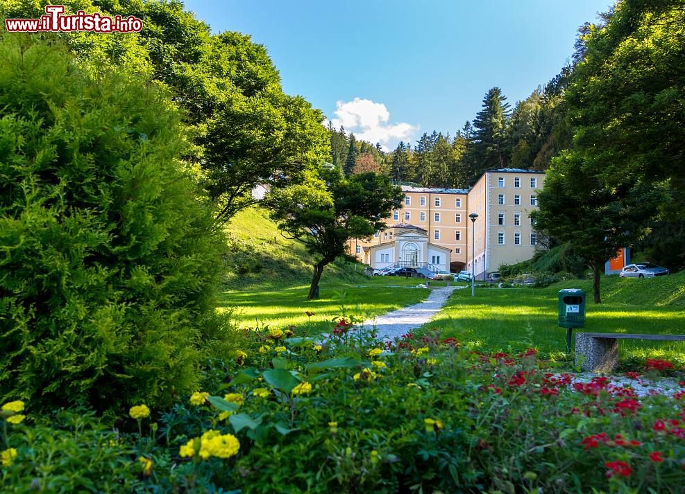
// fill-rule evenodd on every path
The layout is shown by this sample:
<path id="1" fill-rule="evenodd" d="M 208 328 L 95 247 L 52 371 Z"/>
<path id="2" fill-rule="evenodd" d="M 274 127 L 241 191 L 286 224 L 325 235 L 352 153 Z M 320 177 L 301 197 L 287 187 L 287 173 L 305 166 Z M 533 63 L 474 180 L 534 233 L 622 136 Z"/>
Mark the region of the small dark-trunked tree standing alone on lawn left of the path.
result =
<path id="1" fill-rule="evenodd" d="M 337 168 L 271 193 L 268 202 L 278 228 L 321 257 L 314 265 L 307 299 L 315 297 L 323 268 L 345 254 L 347 241 L 387 227 L 383 220 L 400 206 L 402 197 L 400 188 L 385 175 L 360 173 L 346 178 Z"/>

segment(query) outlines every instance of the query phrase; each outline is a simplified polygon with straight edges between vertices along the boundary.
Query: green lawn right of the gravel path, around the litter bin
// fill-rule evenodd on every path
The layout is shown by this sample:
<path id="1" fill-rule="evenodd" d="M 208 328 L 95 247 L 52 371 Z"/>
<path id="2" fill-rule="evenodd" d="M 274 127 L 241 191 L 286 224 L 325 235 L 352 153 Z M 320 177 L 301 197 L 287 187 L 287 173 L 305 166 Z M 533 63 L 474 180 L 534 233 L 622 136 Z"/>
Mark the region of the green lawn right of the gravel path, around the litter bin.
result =
<path id="1" fill-rule="evenodd" d="M 476 342 L 481 350 L 519 351 L 534 346 L 564 359 L 566 329 L 557 326 L 557 293 L 582 288 L 587 303 L 584 331 L 685 335 L 685 273 L 658 279 L 602 279 L 602 301 L 592 303 L 590 281 L 564 281 L 549 288 L 457 290 L 446 308 L 423 330 L 436 327 L 444 337 Z M 575 343 L 574 343 L 575 345 Z M 685 364 L 685 342 L 620 340 L 619 358 L 667 358 Z"/>

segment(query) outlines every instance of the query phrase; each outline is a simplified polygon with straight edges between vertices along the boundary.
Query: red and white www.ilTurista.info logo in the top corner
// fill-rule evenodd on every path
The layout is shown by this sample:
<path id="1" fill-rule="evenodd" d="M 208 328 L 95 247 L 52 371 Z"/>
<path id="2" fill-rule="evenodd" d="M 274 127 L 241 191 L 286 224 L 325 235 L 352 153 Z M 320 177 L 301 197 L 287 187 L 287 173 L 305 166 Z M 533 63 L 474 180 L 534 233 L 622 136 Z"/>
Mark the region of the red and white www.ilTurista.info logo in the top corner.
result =
<path id="1" fill-rule="evenodd" d="M 45 6 L 40 19 L 5 19 L 5 28 L 10 33 L 41 33 L 44 31 L 69 32 L 91 31 L 94 33 L 132 33 L 143 28 L 143 21 L 133 15 L 124 19 L 121 15 L 108 17 L 98 12 L 86 14 L 78 10 L 74 15 L 64 15 L 65 6 Z"/>

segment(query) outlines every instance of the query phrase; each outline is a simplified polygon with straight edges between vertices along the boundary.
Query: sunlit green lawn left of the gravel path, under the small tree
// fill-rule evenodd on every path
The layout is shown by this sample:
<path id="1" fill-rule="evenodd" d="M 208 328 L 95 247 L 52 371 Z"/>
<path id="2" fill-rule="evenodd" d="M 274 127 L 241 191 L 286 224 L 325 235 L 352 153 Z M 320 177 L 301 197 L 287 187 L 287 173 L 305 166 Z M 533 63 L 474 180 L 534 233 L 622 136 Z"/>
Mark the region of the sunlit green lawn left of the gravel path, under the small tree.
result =
<path id="1" fill-rule="evenodd" d="M 267 285 L 264 289 L 227 291 L 220 307 L 233 309 L 242 327 L 285 328 L 294 324 L 321 333 L 330 330 L 331 319 L 341 315 L 365 319 L 420 302 L 430 292 L 415 288 L 421 282 L 396 276 L 364 277 L 360 283 L 330 279 L 321 283 L 320 298 L 316 300 L 307 300 L 308 284 L 279 290 Z M 316 315 L 307 317 L 307 310 Z"/>

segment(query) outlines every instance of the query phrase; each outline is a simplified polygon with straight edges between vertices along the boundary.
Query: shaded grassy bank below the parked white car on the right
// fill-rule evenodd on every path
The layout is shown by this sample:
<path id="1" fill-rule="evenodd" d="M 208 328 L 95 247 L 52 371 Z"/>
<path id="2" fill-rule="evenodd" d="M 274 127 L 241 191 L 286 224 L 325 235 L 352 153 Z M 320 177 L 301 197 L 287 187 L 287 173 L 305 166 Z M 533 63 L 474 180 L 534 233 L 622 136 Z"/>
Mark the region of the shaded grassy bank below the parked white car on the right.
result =
<path id="1" fill-rule="evenodd" d="M 550 288 L 581 288 L 592 299 L 592 280 L 559 281 Z M 658 278 L 602 276 L 602 301 L 636 306 L 685 306 L 685 271 Z"/>

